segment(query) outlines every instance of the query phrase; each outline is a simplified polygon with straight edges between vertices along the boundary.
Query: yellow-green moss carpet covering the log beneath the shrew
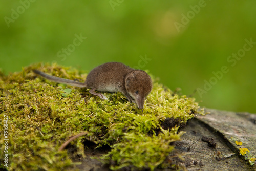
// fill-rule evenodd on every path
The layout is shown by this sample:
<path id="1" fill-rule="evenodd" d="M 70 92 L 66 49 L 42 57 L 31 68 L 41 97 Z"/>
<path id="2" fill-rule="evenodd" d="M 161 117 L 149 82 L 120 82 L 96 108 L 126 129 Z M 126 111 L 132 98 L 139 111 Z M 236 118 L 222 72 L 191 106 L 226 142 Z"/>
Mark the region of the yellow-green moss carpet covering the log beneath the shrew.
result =
<path id="1" fill-rule="evenodd" d="M 177 133 L 178 125 L 198 113 L 195 99 L 174 94 L 154 78 L 153 90 L 140 110 L 121 93 L 106 92 L 109 101 L 101 100 L 80 88 L 37 77 L 32 69 L 81 82 L 87 76 L 76 69 L 41 63 L 8 76 L 0 73 L 0 114 L 9 119 L 9 170 L 74 170 L 78 163 L 58 148 L 84 130 L 88 131 L 85 138 L 98 147 L 112 147 L 101 158 L 111 169 L 167 167 L 166 157 L 173 149 L 170 143 L 182 134 Z M 161 124 L 167 118 L 179 124 L 165 124 L 164 130 Z M 1 122 L 1 133 L 3 126 Z M 84 156 L 83 138 L 71 142 L 76 155 Z M 4 146 L 0 148 L 3 156 Z"/>

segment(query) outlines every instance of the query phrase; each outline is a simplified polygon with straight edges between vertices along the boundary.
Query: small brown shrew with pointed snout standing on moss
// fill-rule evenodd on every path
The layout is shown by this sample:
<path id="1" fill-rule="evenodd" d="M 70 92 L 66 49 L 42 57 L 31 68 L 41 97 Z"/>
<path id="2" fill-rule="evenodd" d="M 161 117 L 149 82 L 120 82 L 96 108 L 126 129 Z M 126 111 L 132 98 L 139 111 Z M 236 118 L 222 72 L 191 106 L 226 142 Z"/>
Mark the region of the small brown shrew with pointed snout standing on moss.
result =
<path id="1" fill-rule="evenodd" d="M 151 77 L 142 70 L 135 70 L 120 62 L 108 62 L 95 67 L 87 76 L 84 83 L 48 75 L 44 72 L 33 70 L 34 73 L 54 82 L 69 84 L 71 86 L 88 88 L 89 93 L 108 100 L 99 92 L 121 92 L 139 109 L 143 109 L 146 96 L 152 90 Z"/>

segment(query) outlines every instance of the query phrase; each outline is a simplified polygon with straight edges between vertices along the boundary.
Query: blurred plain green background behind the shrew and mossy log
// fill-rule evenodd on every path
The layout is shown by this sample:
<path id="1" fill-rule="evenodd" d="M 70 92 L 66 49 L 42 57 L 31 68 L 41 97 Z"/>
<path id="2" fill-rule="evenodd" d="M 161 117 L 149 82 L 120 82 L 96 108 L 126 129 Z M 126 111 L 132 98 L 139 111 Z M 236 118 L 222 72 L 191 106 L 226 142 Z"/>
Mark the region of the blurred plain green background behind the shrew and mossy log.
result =
<path id="1" fill-rule="evenodd" d="M 1 1 L 0 68 L 57 62 L 90 71 L 120 61 L 201 106 L 256 113 L 255 8 L 253 0 Z"/>

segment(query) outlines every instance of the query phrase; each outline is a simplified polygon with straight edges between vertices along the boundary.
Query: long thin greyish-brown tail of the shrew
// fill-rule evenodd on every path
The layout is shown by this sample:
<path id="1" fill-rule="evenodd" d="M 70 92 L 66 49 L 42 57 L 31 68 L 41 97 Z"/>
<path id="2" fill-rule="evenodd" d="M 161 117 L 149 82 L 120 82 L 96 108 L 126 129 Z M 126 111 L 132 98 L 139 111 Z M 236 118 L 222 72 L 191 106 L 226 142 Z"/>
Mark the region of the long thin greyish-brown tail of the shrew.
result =
<path id="1" fill-rule="evenodd" d="M 44 72 L 41 72 L 39 70 L 33 70 L 33 72 L 42 76 L 42 77 L 44 77 L 44 78 L 46 78 L 46 79 L 54 81 L 54 82 L 68 84 L 70 86 L 76 86 L 76 87 L 81 87 L 81 88 L 86 87 L 86 84 L 83 83 L 83 82 L 77 82 L 77 81 L 73 81 L 73 80 L 70 80 L 70 79 L 55 77 L 55 76 L 52 76 L 52 75 L 48 75 Z"/>

